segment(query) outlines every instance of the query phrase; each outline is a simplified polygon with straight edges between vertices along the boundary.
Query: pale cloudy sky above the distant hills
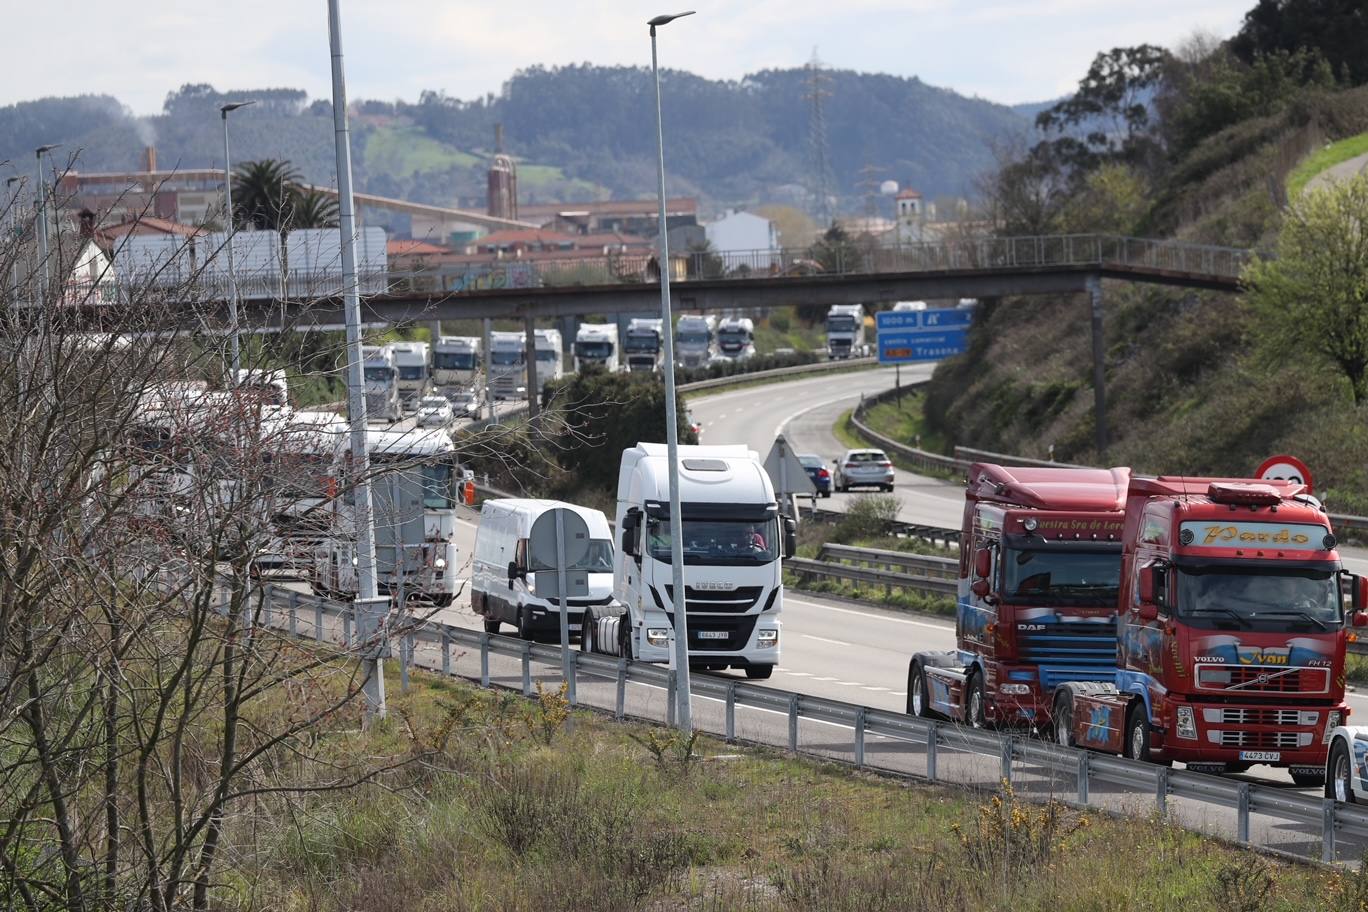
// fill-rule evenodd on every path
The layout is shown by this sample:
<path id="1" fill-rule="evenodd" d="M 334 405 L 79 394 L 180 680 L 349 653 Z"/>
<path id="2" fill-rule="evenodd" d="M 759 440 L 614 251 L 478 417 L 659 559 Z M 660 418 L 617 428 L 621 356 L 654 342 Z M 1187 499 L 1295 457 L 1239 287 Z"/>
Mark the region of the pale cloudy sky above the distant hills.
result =
<path id="1" fill-rule="evenodd" d="M 536 63 L 648 64 L 661 0 L 341 0 L 347 94 L 473 98 Z M 803 64 L 915 75 L 995 101 L 1068 92 L 1097 51 L 1233 34 L 1253 0 L 670 0 L 662 66 L 713 78 Z M 0 104 L 107 93 L 156 113 L 186 82 L 330 93 L 326 0 L 5 4 Z M 51 40 L 44 40 L 44 36 Z"/>

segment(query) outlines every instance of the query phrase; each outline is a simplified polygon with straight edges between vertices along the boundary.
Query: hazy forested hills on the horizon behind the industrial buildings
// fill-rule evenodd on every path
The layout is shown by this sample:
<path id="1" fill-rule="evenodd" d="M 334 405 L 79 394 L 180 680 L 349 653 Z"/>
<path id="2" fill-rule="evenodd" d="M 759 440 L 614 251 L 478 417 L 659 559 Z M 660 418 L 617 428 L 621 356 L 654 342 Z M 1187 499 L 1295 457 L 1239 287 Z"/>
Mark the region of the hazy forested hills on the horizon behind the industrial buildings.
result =
<path id="1" fill-rule="evenodd" d="M 1030 129 L 1004 105 L 967 98 L 917 78 L 826 71 L 830 178 L 841 208 L 860 208 L 860 170 L 929 196 L 964 194 L 993 164 L 993 144 Z M 766 70 L 740 81 L 665 77 L 672 193 L 714 205 L 798 202 L 813 185 L 804 70 Z M 190 85 L 152 118 L 131 118 L 109 96 L 42 98 L 0 108 L 0 161 L 18 168 L 48 142 L 81 150 L 78 168 L 134 168 L 155 142 L 159 164 L 222 160 L 218 105 L 256 98 L 234 115 L 234 159 L 289 159 L 306 178 L 332 180 L 331 111 L 293 89 L 218 92 Z M 650 72 L 575 66 L 520 71 L 498 96 L 460 100 L 425 92 L 409 101 L 361 101 L 354 127 L 358 186 L 428 202 L 476 200 L 494 124 L 523 164 L 525 201 L 637 197 L 654 183 Z"/>

